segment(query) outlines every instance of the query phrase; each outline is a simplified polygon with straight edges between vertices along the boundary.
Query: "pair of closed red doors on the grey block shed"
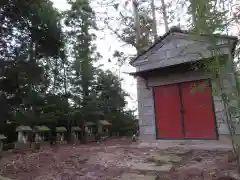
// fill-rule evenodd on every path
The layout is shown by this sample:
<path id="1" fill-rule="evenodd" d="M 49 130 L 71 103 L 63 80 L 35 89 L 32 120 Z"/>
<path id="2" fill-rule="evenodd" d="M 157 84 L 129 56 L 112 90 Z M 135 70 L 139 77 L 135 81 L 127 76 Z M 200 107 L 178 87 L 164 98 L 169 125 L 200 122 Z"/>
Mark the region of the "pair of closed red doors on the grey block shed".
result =
<path id="1" fill-rule="evenodd" d="M 208 80 L 155 87 L 154 98 L 158 138 L 217 138 Z"/>

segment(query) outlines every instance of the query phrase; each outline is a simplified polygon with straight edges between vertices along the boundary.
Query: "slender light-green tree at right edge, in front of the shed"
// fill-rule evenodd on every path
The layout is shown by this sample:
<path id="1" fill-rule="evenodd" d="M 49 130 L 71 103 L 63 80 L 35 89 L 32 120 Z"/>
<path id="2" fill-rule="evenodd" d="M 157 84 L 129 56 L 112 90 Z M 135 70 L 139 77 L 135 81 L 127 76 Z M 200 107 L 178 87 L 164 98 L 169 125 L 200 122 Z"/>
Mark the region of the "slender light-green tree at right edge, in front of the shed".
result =
<path id="1" fill-rule="evenodd" d="M 215 77 L 217 82 L 215 92 L 221 97 L 224 105 L 226 116 L 225 123 L 227 124 L 231 136 L 233 152 L 237 159 L 238 170 L 240 171 L 240 151 L 238 150 L 240 146 L 234 139 L 236 125 L 238 124 L 236 117 L 239 117 L 240 107 L 240 91 L 236 72 L 237 68 L 231 55 L 228 57 L 222 57 L 219 54 L 219 47 L 217 46 L 218 39 L 214 36 L 214 33 L 228 32 L 228 27 L 232 24 L 233 19 L 232 17 L 229 17 L 225 6 L 226 3 L 231 4 L 232 1 L 220 1 L 219 3 L 216 0 L 205 0 L 201 2 L 190 0 L 189 12 L 193 23 L 192 30 L 197 36 L 208 34 L 209 38 L 207 40 L 213 47 L 213 58 L 207 63 L 203 63 L 203 67 Z M 227 61 L 223 64 L 222 62 L 226 58 Z M 236 81 L 236 87 L 226 89 L 224 80 L 227 74 L 230 74 Z M 237 103 L 234 103 L 236 101 Z"/>

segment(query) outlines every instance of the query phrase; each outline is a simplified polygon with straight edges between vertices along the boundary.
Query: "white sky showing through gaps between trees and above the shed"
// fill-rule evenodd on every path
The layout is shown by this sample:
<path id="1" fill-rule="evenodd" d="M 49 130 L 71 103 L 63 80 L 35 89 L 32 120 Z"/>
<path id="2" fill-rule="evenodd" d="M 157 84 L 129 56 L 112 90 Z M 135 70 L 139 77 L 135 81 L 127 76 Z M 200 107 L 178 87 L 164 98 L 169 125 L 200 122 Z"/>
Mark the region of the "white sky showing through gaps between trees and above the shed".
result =
<path id="1" fill-rule="evenodd" d="M 69 8 L 69 5 L 66 3 L 66 0 L 51 0 L 54 3 L 54 6 L 58 8 L 59 10 L 67 10 Z M 104 2 L 104 0 L 94 0 L 93 2 Z M 187 9 L 183 8 L 181 3 L 177 3 L 179 0 L 165 0 L 165 3 L 171 3 L 171 6 L 168 7 L 168 15 L 169 15 L 169 26 L 174 26 L 178 25 L 182 29 L 186 29 L 187 25 L 186 22 L 188 22 L 189 17 L 187 17 Z M 234 0 L 235 2 L 236 0 Z M 113 0 L 113 2 L 124 2 L 123 0 Z M 131 2 L 129 0 L 129 2 Z M 155 1 L 156 6 L 160 7 L 161 1 Z M 102 16 L 107 16 L 110 15 L 111 17 L 117 15 L 116 11 L 114 10 L 113 6 L 106 6 L 106 7 L 101 7 L 99 4 L 91 4 L 93 10 L 97 14 L 98 20 L 101 19 Z M 127 6 L 128 10 L 130 13 L 132 13 L 132 6 L 131 3 Z M 126 10 L 120 10 L 122 13 L 125 13 Z M 164 34 L 164 26 L 162 23 L 162 18 L 160 17 L 160 13 L 156 11 L 156 19 L 157 19 L 157 25 L 158 25 L 158 34 Z M 98 25 L 102 26 L 103 23 L 101 21 L 97 22 Z M 113 21 L 111 26 L 118 27 L 118 24 L 116 21 Z M 236 28 L 236 27 L 235 27 Z M 238 27 L 239 28 L 239 27 Z M 234 32 L 236 29 L 234 27 L 231 27 L 230 32 Z M 238 31 L 237 31 L 238 32 Z M 231 33 L 232 34 L 232 33 Z M 234 34 L 234 33 L 233 33 Z M 136 52 L 134 51 L 133 48 L 131 47 L 123 47 L 123 44 L 119 39 L 114 36 L 111 31 L 107 28 L 103 29 L 102 31 L 99 31 L 96 33 L 97 35 L 97 40 L 96 40 L 96 45 L 97 45 L 97 50 L 100 52 L 100 54 L 103 56 L 103 58 L 99 61 L 100 64 L 103 64 L 103 69 L 111 70 L 113 72 L 116 72 L 117 75 L 120 74 L 120 78 L 123 79 L 122 81 L 122 87 L 123 89 L 130 94 L 130 97 L 128 97 L 126 100 L 128 102 L 127 107 L 130 109 L 137 109 L 137 87 L 136 87 L 136 79 L 131 77 L 130 75 L 126 74 L 129 72 L 135 71 L 135 68 L 131 67 L 128 62 L 125 63 L 121 68 L 120 68 L 120 73 L 118 66 L 114 63 L 114 61 L 109 62 L 109 59 L 112 59 L 113 52 L 115 50 L 120 50 L 125 52 L 126 54 L 135 54 Z M 137 114 L 137 112 L 136 112 Z"/>

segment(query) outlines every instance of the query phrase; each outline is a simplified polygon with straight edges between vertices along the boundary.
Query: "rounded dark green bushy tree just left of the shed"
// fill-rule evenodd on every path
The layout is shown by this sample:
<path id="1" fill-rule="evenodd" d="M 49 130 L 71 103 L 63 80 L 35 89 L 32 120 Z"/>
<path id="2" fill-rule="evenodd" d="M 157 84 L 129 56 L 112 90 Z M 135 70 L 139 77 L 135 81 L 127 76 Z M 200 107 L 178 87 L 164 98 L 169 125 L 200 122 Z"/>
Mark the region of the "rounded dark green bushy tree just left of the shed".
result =
<path id="1" fill-rule="evenodd" d="M 127 135 L 136 131 L 136 117 L 133 111 L 126 110 L 126 96 L 128 94 L 121 88 L 121 79 L 111 71 L 100 71 L 97 78 L 96 92 L 102 118 L 111 122 L 111 131 Z"/>

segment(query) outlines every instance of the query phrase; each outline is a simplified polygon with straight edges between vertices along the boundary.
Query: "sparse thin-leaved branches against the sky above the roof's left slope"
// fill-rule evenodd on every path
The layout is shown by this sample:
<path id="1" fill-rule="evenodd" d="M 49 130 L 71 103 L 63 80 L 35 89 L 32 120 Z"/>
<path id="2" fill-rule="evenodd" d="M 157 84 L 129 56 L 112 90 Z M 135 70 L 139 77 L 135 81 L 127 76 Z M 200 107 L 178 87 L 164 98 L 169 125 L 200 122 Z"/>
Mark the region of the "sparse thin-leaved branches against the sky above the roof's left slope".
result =
<path id="1" fill-rule="evenodd" d="M 126 10 L 127 4 L 128 1 L 126 1 L 124 10 Z M 134 17 L 132 13 L 123 11 L 120 8 L 120 4 L 113 4 L 113 7 L 118 14 L 116 21 L 118 22 L 119 26 L 114 28 L 114 25 L 112 25 L 111 21 L 109 20 L 110 17 L 107 17 L 104 20 L 104 23 L 107 25 L 108 29 L 110 29 L 119 40 L 121 40 L 124 44 L 131 45 L 137 50 L 137 52 L 146 50 L 146 48 L 153 43 L 153 19 L 151 17 L 151 9 L 148 6 L 149 4 L 144 1 L 138 2 L 140 21 L 140 41 L 138 44 L 136 43 Z"/>

